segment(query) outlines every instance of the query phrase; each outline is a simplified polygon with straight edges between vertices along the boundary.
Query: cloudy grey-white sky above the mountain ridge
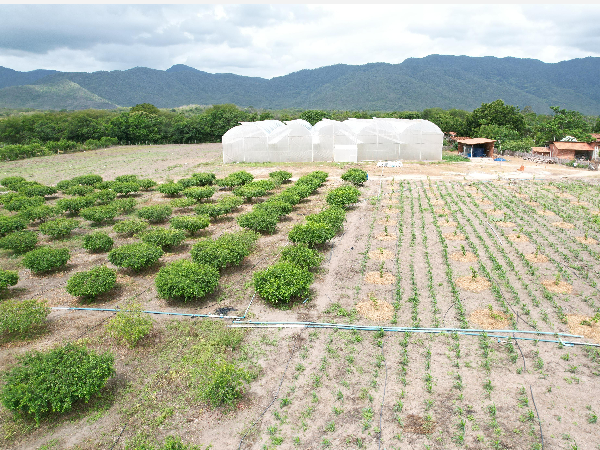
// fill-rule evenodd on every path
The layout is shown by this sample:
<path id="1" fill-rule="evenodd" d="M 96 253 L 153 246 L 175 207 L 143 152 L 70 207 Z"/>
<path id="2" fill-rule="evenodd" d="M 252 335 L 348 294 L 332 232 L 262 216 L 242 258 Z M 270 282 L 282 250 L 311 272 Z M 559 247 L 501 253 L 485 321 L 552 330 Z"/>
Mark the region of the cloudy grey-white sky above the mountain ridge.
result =
<path id="1" fill-rule="evenodd" d="M 0 66 L 271 78 L 430 54 L 600 56 L 599 5 L 0 5 Z"/>

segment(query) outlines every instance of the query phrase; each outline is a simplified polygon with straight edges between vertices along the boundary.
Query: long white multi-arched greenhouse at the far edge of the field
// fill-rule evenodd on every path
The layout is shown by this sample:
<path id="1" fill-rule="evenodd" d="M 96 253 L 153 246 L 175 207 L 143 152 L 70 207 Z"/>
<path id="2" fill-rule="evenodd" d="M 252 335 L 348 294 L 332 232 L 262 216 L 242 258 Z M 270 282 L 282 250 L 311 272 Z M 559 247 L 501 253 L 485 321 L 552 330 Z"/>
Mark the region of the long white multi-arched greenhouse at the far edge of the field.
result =
<path id="1" fill-rule="evenodd" d="M 223 162 L 439 161 L 443 137 L 421 119 L 241 122 L 223 135 Z"/>

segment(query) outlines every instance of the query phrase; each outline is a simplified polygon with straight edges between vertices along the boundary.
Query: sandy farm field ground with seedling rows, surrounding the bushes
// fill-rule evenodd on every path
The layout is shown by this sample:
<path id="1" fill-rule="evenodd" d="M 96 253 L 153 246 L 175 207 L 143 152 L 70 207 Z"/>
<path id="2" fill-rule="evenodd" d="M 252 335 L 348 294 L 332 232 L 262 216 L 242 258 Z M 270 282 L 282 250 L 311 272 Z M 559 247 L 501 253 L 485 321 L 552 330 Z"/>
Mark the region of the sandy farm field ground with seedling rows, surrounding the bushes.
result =
<path id="1" fill-rule="evenodd" d="M 314 170 L 329 177 L 241 265 L 221 273 L 215 292 L 191 302 L 161 299 L 158 270 L 190 259 L 202 239 L 241 230 L 236 217 L 262 199 L 211 221 L 142 272 L 119 269 L 117 287 L 92 303 L 67 293 L 68 279 L 116 267 L 106 253 L 85 250 L 83 237 L 104 231 L 115 247 L 137 242 L 112 229 L 135 213 L 101 226 L 79 219 L 62 240 L 40 235 L 41 245 L 71 251 L 68 265 L 49 275 L 0 250 L 0 268 L 19 272 L 0 302 L 116 309 L 135 299 L 148 311 L 239 318 L 151 315 L 152 332 L 131 349 L 107 333 L 114 312 L 54 309 L 41 332 L 0 338 L 0 371 L 66 342 L 112 352 L 116 367 L 101 395 L 39 424 L 0 406 L 0 448 L 155 448 L 148 446 L 167 436 L 213 450 L 600 448 L 600 174 L 518 158 L 399 168 L 223 164 L 221 152 L 220 144 L 115 147 L 2 163 L 0 177 L 48 185 L 89 173 L 157 182 L 237 170 L 255 179 L 275 170 L 292 181 Z M 292 227 L 326 206 L 351 167 L 369 180 L 343 230 L 319 247 L 324 260 L 310 295 L 285 307 L 267 303 L 252 274 L 279 258 Z M 228 194 L 219 190 L 212 201 Z M 136 208 L 172 200 L 157 191 L 133 198 Z M 189 214 L 193 208 L 174 209 Z M 233 409 L 214 409 L 197 394 L 195 358 L 213 321 L 219 333 L 240 337 L 227 357 L 252 374 Z"/>

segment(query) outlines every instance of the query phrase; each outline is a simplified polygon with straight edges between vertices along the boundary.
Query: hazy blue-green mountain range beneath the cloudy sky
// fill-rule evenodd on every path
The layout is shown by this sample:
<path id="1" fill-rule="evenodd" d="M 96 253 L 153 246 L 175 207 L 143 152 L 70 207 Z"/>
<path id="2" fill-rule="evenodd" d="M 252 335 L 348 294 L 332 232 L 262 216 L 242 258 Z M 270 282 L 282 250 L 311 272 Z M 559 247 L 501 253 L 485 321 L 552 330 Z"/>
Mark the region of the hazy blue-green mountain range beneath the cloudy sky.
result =
<path id="1" fill-rule="evenodd" d="M 270 80 L 210 74 L 182 64 L 164 71 L 135 67 L 93 73 L 0 67 L 0 107 L 114 108 L 147 102 L 159 108 L 235 103 L 271 109 L 421 111 L 473 110 L 500 98 L 538 113 L 560 106 L 600 115 L 598 73 L 600 58 L 592 57 L 550 64 L 442 55 L 409 58 L 401 64 L 337 64 Z"/>

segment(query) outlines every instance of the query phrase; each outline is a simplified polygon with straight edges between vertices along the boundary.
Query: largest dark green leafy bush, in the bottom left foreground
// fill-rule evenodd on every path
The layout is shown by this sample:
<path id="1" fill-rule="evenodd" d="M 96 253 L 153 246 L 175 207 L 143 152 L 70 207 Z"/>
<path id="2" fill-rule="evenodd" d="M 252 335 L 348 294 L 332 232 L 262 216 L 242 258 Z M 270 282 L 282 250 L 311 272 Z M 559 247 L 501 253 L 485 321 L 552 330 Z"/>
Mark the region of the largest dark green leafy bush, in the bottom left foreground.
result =
<path id="1" fill-rule="evenodd" d="M 71 410 L 77 401 L 88 402 L 114 373 L 109 353 L 98 355 L 74 344 L 33 351 L 6 373 L 0 400 L 39 423 L 46 415 Z"/>

